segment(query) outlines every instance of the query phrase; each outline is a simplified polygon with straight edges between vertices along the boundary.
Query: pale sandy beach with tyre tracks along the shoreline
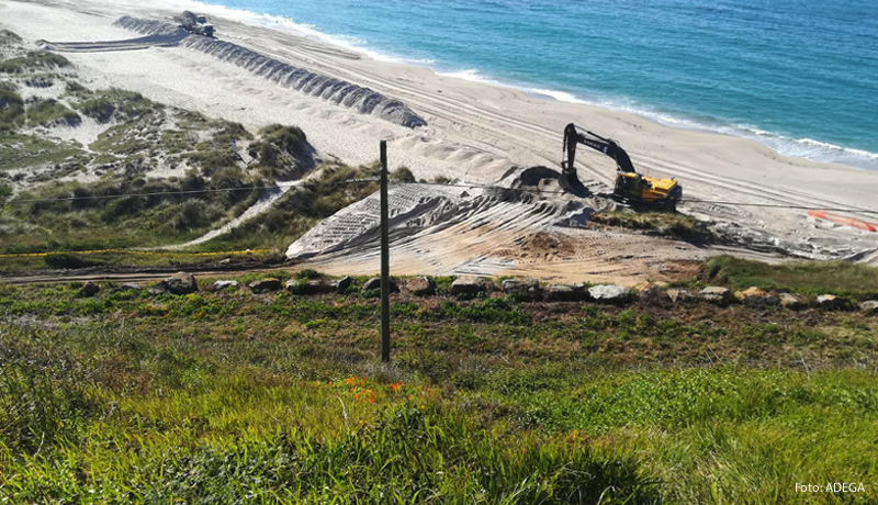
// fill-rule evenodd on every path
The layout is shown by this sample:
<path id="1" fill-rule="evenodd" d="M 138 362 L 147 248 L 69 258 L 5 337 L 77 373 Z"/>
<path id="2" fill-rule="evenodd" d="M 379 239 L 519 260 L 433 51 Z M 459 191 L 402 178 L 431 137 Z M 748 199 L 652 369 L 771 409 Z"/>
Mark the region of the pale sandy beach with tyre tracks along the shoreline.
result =
<path id="1" fill-rule="evenodd" d="M 0 0 L 0 26 L 29 41 L 133 38 L 136 34 L 113 26 L 113 21 L 121 15 L 170 21 L 175 13 L 127 0 L 112 4 Z M 378 158 L 379 141 L 387 139 L 392 168 L 406 166 L 419 179 L 443 176 L 489 183 L 514 166 L 559 168 L 562 131 L 574 122 L 620 142 L 640 171 L 676 178 L 689 199 L 813 209 L 876 207 L 878 171 L 785 157 L 755 141 L 672 128 L 633 114 L 530 97 L 423 67 L 376 61 L 280 25 L 256 26 L 216 15 L 213 23 L 222 40 L 401 100 L 428 125 L 407 128 L 359 114 L 182 47 L 65 56 L 93 87 L 138 91 L 159 102 L 251 128 L 271 123 L 299 125 L 324 159 L 372 162 Z M 583 152 L 577 160 L 581 179 L 612 181 L 615 167 L 608 158 Z M 814 221 L 801 209 L 687 203 L 682 211 L 734 223 L 777 240 L 817 244 L 837 257 L 878 261 L 875 234 Z M 878 215 L 865 212 L 846 215 L 878 221 Z"/>

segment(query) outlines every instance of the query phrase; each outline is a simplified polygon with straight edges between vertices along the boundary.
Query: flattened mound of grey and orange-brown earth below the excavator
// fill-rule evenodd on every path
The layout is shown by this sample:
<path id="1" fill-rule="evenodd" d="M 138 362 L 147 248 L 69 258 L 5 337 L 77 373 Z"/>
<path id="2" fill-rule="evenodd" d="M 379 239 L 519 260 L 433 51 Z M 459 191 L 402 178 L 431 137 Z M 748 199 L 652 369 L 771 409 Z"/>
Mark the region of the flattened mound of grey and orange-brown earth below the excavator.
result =
<path id="1" fill-rule="evenodd" d="M 594 210 L 584 202 L 508 200 L 494 189 L 420 184 L 394 186 L 389 199 L 394 274 L 526 276 L 633 285 L 666 279 L 663 272 L 673 271 L 675 261 L 703 256 L 685 243 L 584 228 L 576 216 Z M 374 273 L 380 268 L 379 215 L 375 193 L 324 220 L 286 256 L 327 273 Z"/>

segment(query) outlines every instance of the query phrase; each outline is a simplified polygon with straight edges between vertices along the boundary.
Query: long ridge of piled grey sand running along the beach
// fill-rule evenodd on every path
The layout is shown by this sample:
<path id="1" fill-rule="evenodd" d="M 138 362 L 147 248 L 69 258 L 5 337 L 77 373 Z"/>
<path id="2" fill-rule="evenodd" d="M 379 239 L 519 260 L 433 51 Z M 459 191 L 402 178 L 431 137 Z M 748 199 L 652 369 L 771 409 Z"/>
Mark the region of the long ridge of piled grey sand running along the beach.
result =
<path id="1" fill-rule="evenodd" d="M 131 16 L 120 18 L 114 24 L 147 35 L 175 34 L 181 30 L 160 21 Z M 353 109 L 361 114 L 376 115 L 409 128 L 427 125 L 423 117 L 398 100 L 369 88 L 293 67 L 230 42 L 192 35 L 182 38 L 180 45 L 237 65 L 284 88 Z"/>

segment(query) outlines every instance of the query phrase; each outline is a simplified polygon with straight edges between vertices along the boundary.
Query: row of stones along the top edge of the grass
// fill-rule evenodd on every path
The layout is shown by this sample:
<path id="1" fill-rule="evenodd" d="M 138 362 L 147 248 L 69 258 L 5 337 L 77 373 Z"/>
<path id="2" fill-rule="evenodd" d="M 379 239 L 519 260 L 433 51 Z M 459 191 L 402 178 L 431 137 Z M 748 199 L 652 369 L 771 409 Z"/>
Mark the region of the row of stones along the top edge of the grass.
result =
<path id="1" fill-rule="evenodd" d="M 279 279 L 261 279 L 247 284 L 254 293 L 268 293 L 281 291 L 284 288 L 294 294 L 342 294 L 348 288 L 353 285 L 353 279 L 346 277 L 340 280 L 290 280 L 284 283 Z M 211 291 L 221 291 L 226 288 L 237 288 L 238 282 L 233 280 L 219 280 L 214 282 Z M 436 294 L 436 281 L 426 277 L 416 277 L 406 281 L 405 288 L 416 296 L 431 296 Z M 115 291 L 143 290 L 139 284 L 123 284 L 115 288 Z M 363 285 L 364 291 L 381 289 L 381 279 L 369 279 Z M 496 291 L 497 287 L 486 277 L 462 276 L 451 284 L 451 295 L 479 294 L 488 291 Z M 150 292 L 168 292 L 171 294 L 189 294 L 199 290 L 195 278 L 189 273 L 177 273 L 155 287 Z M 855 310 L 857 306 L 867 313 L 878 314 L 878 301 L 866 301 L 858 305 L 844 296 L 824 294 L 811 301 L 803 296 L 792 293 L 767 293 L 758 288 L 751 288 L 744 291 L 732 293 L 728 288 L 709 287 L 700 291 L 687 291 L 680 289 L 668 289 L 666 283 L 645 283 L 633 290 L 619 285 L 595 285 L 585 284 L 548 284 L 541 285 L 536 279 L 507 279 L 500 284 L 500 290 L 509 294 L 527 295 L 531 299 L 544 299 L 558 302 L 583 302 L 595 301 L 612 304 L 624 304 L 635 299 L 654 303 L 677 303 L 693 300 L 703 300 L 721 305 L 741 302 L 751 306 L 774 306 L 780 305 L 787 308 L 799 310 L 809 306 L 818 306 L 825 310 L 844 311 Z M 80 290 L 82 296 L 93 296 L 99 291 L 97 284 L 86 283 Z M 398 293 L 398 284 L 391 280 L 390 291 Z"/>

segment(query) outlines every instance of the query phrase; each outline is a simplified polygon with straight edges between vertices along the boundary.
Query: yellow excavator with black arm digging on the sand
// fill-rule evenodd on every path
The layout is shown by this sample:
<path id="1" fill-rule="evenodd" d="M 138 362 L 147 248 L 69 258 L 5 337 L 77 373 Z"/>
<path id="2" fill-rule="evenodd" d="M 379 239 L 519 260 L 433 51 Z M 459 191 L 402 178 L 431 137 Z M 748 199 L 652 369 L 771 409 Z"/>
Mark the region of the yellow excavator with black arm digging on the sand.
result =
<path id="1" fill-rule="evenodd" d="M 674 210 L 683 198 L 683 187 L 674 179 L 655 179 L 638 173 L 628 153 L 616 141 L 584 131 L 571 123 L 564 128 L 564 153 L 561 161 L 563 179 L 570 188 L 582 188 L 576 177 L 576 146 L 582 144 L 616 160 L 614 195 L 624 202 L 661 210 Z"/>

